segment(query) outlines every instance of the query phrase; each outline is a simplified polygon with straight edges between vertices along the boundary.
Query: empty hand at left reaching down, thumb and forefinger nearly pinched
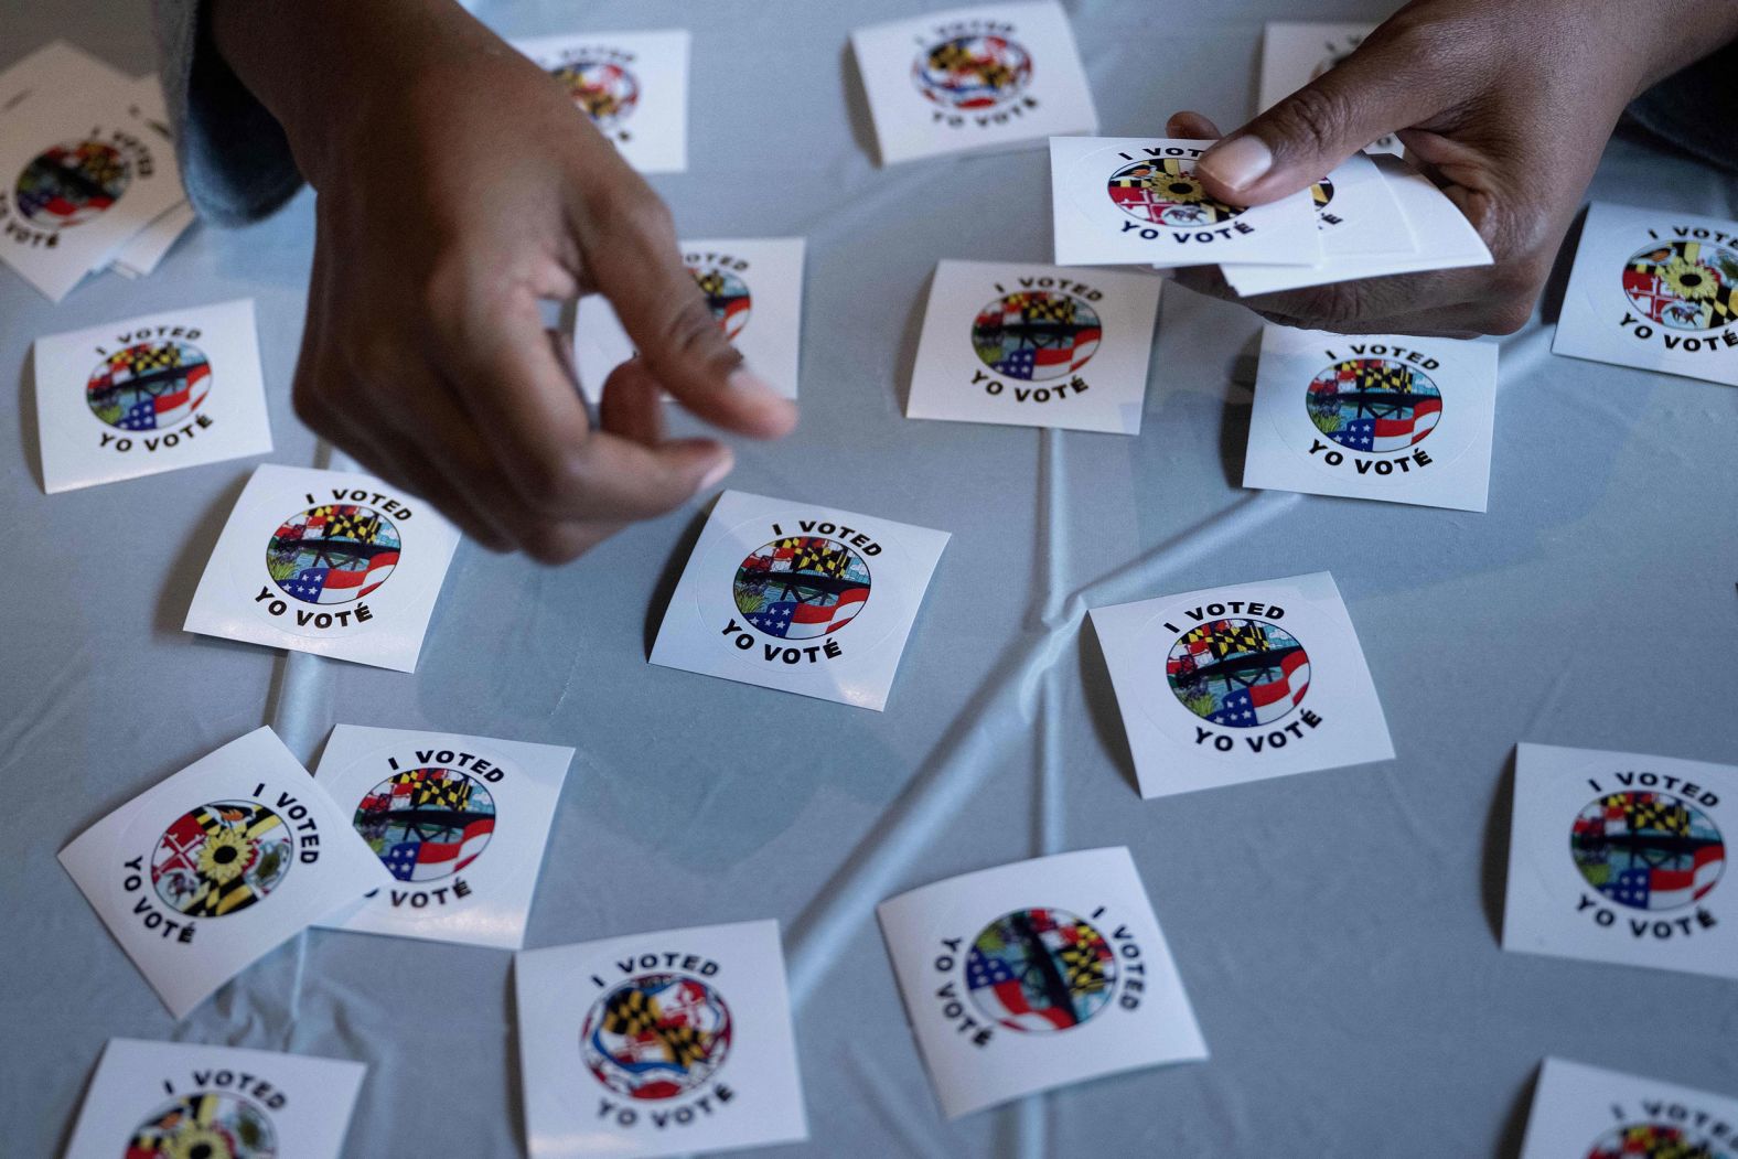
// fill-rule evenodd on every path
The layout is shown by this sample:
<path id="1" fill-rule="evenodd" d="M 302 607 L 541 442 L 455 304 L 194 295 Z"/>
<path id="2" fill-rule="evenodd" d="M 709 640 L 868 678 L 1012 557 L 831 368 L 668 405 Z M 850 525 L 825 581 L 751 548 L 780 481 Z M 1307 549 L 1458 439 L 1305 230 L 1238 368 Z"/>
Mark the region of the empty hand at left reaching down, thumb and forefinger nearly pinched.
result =
<path id="1" fill-rule="evenodd" d="M 318 189 L 295 410 L 468 535 L 544 561 L 732 467 L 796 407 L 742 365 L 669 212 L 535 64 L 452 0 L 219 0 L 222 56 Z M 641 351 L 591 427 L 541 301 L 600 292 Z"/>

